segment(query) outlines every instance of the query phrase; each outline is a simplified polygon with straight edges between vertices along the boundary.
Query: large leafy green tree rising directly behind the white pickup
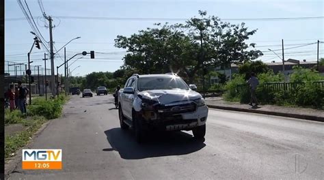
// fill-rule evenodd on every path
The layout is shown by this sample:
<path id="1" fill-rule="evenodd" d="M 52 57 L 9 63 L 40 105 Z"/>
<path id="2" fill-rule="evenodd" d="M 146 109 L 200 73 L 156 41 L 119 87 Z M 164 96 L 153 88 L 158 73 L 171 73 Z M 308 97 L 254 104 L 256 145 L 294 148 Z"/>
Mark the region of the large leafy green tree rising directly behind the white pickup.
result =
<path id="1" fill-rule="evenodd" d="M 191 18 L 185 25 L 161 25 L 147 28 L 130 37 L 118 35 L 115 46 L 125 48 L 124 67 L 140 74 L 177 72 L 189 83 L 202 73 L 203 65 L 218 66 L 243 63 L 262 55 L 246 44 L 256 30 L 248 31 L 244 23 L 230 25 L 215 16 Z M 202 42 L 202 43 L 201 43 Z"/>

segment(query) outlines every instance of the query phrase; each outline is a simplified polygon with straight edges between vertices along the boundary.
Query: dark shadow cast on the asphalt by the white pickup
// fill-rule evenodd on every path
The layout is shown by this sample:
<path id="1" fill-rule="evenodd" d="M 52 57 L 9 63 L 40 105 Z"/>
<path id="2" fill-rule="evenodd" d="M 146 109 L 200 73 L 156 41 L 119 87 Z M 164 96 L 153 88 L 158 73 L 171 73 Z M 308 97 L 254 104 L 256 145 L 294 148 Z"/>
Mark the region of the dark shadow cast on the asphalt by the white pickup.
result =
<path id="1" fill-rule="evenodd" d="M 138 160 L 147 157 L 184 155 L 204 148 L 204 140 L 196 140 L 185 132 L 161 132 L 149 134 L 146 142 L 138 144 L 131 130 L 113 128 L 105 131 L 112 149 L 118 151 L 126 160 Z M 111 148 L 103 149 L 111 151 Z"/>

